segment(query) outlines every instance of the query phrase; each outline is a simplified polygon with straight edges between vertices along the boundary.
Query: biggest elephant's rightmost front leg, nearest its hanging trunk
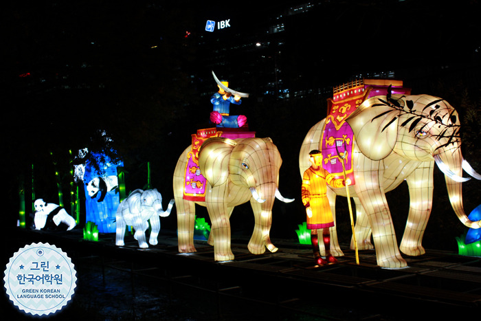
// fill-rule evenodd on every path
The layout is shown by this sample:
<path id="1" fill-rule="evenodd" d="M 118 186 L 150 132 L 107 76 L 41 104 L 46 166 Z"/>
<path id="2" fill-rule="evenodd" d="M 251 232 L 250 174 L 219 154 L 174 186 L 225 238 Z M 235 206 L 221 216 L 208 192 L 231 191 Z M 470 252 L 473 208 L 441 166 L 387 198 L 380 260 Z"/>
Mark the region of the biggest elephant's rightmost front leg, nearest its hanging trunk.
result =
<path id="1" fill-rule="evenodd" d="M 429 220 L 433 197 L 433 163 L 425 162 L 406 178 L 410 194 L 410 209 L 399 249 L 411 256 L 425 254 L 424 231 Z"/>

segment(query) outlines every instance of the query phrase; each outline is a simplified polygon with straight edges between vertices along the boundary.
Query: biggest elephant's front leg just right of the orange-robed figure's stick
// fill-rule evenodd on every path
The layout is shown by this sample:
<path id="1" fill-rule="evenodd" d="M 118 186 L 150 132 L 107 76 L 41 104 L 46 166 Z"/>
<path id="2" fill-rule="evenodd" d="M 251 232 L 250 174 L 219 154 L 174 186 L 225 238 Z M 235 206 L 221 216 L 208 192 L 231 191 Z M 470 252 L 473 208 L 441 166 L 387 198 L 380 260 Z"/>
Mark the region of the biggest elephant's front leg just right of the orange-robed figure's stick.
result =
<path id="1" fill-rule="evenodd" d="M 399 252 L 388 201 L 380 184 L 383 177 L 382 164 L 361 153 L 353 156 L 357 168 L 363 168 L 357 172 L 355 191 L 368 214 L 377 264 L 380 267 L 405 267 L 407 263 Z"/>

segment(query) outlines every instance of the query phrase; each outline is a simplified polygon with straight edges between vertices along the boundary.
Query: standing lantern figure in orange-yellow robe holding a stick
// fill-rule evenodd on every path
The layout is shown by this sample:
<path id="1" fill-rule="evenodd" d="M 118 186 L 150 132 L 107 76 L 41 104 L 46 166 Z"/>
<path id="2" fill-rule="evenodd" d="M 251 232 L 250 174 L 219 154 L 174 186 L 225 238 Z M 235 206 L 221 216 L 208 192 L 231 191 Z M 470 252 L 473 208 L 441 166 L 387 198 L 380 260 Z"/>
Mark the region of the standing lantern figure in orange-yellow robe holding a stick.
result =
<path id="1" fill-rule="evenodd" d="M 327 184 L 334 179 L 331 174 L 322 168 L 322 153 L 314 150 L 309 153 L 311 167 L 307 168 L 302 177 L 302 203 L 306 207 L 307 228 L 311 230 L 311 242 L 313 245 L 315 263 L 325 265 L 337 263 L 331 255 L 331 232 L 329 228 L 334 226 L 333 213 L 326 196 Z M 322 239 L 326 249 L 326 259 L 321 257 L 317 230 L 322 229 Z"/>

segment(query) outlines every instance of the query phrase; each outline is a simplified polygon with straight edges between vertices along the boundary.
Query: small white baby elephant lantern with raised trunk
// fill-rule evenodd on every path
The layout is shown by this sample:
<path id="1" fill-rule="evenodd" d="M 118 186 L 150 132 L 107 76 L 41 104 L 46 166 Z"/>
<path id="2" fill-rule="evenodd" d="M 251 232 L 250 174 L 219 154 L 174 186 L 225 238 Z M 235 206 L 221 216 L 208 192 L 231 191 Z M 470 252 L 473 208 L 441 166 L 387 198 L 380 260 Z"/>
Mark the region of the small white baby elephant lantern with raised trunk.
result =
<path id="1" fill-rule="evenodd" d="M 148 220 L 152 227 L 148 243 L 157 245 L 157 236 L 160 231 L 159 217 L 168 217 L 174 200 L 171 199 L 166 211 L 162 210 L 162 197 L 157 189 L 134 190 L 128 195 L 117 209 L 117 234 L 115 245 L 124 246 L 124 234 L 126 226 L 132 226 L 135 230 L 134 238 L 139 242 L 139 247 L 146 248 L 145 231 L 148 229 Z"/>

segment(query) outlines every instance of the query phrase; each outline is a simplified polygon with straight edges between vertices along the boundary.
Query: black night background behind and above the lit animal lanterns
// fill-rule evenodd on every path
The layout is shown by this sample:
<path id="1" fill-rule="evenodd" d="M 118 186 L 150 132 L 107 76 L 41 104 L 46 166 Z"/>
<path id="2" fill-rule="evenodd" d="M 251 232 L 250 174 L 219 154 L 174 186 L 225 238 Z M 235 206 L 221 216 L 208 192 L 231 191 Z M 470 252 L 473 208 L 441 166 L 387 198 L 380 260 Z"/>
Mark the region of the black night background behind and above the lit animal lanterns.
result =
<path id="1" fill-rule="evenodd" d="M 230 87 L 251 93 L 233 113 L 247 115 L 251 130 L 258 137 L 271 137 L 282 155 L 280 191 L 296 200 L 276 201 L 273 239 L 297 238 L 295 229 L 305 221 L 300 144 L 326 115 L 332 87 L 348 80 L 393 71 L 412 93 L 445 98 L 461 115 L 463 155 L 480 171 L 479 1 L 315 1 L 315 9 L 285 19 L 282 39 L 277 34 L 267 38 L 261 31 L 274 23 L 273 12 L 302 1 L 259 1 L 255 6 L 199 2 L 3 4 L 1 175 L 6 224 L 15 225 L 18 219 L 22 182 L 25 195 L 30 195 L 32 164 L 36 198 L 58 202 L 58 170 L 68 203 L 69 151 L 106 149 L 102 131 L 124 160 L 127 191 L 145 186 L 150 162 L 153 187 L 166 206 L 173 198 L 172 174 L 179 155 L 192 133 L 210 126 L 208 97 L 216 91 L 212 69 L 227 77 Z M 209 34 L 203 30 L 207 19 L 231 19 L 232 27 Z M 264 43 L 258 53 L 235 46 L 256 41 Z M 264 94 L 278 76 L 276 69 L 282 70 L 283 80 L 276 85 L 289 88 L 291 96 Z M 304 92 L 294 96 L 294 91 Z M 434 179 L 432 217 L 423 244 L 456 252 L 454 238 L 466 228 L 451 209 L 437 168 Z M 464 186 L 469 214 L 481 203 L 480 183 L 471 179 Z M 409 206 L 407 186 L 387 197 L 400 241 Z M 197 209 L 208 219 L 203 208 Z M 234 210 L 234 235 L 251 234 L 250 211 L 248 204 Z M 175 209 L 161 224 L 177 228 Z M 337 225 L 340 241 L 347 243 L 345 199 L 337 201 Z"/>

